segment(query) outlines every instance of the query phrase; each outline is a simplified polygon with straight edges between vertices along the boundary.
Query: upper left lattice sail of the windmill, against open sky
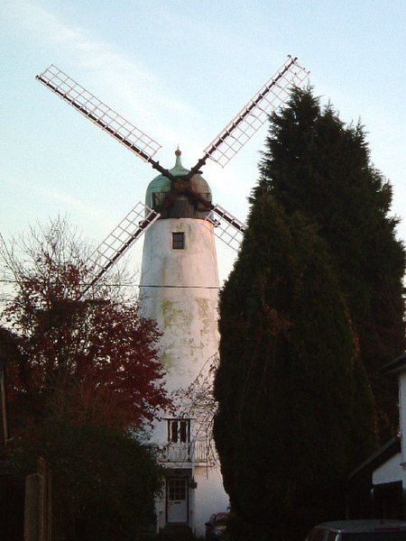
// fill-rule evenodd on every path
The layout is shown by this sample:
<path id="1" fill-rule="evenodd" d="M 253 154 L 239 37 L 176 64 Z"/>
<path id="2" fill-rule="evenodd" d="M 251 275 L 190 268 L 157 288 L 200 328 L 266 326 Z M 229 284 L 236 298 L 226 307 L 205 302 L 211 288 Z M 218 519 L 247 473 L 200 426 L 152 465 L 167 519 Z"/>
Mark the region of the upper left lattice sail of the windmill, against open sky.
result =
<path id="1" fill-rule="evenodd" d="M 134 151 L 142 160 L 152 160 L 152 156 L 161 149 L 161 145 L 152 137 L 125 120 L 54 64 L 36 78 L 130 151 Z"/>

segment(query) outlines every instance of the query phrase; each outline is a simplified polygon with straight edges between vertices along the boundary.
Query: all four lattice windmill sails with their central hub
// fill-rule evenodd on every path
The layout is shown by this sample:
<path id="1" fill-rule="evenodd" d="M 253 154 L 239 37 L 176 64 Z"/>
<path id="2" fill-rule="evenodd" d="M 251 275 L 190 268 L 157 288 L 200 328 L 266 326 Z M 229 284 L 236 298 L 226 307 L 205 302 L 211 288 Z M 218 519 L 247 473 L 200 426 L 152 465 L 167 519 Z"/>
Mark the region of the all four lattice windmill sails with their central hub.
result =
<path id="1" fill-rule="evenodd" d="M 193 189 L 193 179 L 200 173 L 207 160 L 216 161 L 225 167 L 229 160 L 241 150 L 266 122 L 268 115 L 283 105 L 290 94 L 292 85 L 300 86 L 309 72 L 300 66 L 296 57 L 288 60 L 270 78 L 255 96 L 226 124 L 208 144 L 202 157 L 190 169 L 181 166 L 175 171 L 165 169 L 154 159 L 161 145 L 125 120 L 108 105 L 82 87 L 72 78 L 51 65 L 36 78 L 52 92 L 60 96 L 79 113 L 97 124 L 103 131 L 123 144 L 129 151 L 149 163 L 161 176 L 168 179 L 170 189 L 161 197 L 159 204 L 152 206 L 138 203 L 125 215 L 125 218 L 106 236 L 106 239 L 91 255 L 94 278 L 84 286 L 82 294 L 94 286 L 112 265 L 164 214 L 177 197 L 188 197 L 200 211 L 206 213 L 206 225 L 216 225 L 214 233 L 234 250 L 238 249 L 245 224 L 229 213 L 223 206 L 214 204 L 209 198 Z M 180 163 L 180 160 L 178 161 Z"/>

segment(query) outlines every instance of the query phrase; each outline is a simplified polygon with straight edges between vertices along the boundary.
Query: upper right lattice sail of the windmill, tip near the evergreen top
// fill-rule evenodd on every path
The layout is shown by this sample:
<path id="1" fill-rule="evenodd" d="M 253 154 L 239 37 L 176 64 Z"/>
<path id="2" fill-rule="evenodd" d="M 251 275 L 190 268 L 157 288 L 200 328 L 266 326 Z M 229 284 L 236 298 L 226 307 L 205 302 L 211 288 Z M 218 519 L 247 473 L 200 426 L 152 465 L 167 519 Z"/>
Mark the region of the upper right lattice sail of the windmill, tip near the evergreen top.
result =
<path id="1" fill-rule="evenodd" d="M 229 160 L 248 142 L 268 120 L 272 111 L 286 103 L 291 87 L 300 86 L 308 78 L 309 71 L 289 59 L 276 71 L 263 87 L 244 105 L 226 127 L 218 133 L 204 150 L 210 160 L 225 167 Z"/>

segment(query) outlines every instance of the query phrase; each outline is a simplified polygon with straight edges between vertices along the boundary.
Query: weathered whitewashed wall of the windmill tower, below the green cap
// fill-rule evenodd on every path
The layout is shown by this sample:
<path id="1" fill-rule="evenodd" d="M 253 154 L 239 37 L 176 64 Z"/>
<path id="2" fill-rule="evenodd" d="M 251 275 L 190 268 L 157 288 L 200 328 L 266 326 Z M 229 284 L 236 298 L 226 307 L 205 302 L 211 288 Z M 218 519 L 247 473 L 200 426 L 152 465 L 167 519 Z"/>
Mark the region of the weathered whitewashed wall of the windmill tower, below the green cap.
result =
<path id="1" fill-rule="evenodd" d="M 183 250 L 172 249 L 172 233 L 177 232 L 185 234 Z M 167 390 L 185 389 L 218 350 L 219 282 L 213 225 L 195 218 L 155 222 L 145 234 L 141 284 L 141 313 L 157 321 L 162 332 Z M 164 420 L 155 423 L 152 441 L 166 443 Z M 189 467 L 198 483 L 189 491 L 189 526 L 204 536 L 205 522 L 213 513 L 226 511 L 228 497 L 218 466 Z M 160 527 L 164 509 L 164 500 L 157 502 Z"/>

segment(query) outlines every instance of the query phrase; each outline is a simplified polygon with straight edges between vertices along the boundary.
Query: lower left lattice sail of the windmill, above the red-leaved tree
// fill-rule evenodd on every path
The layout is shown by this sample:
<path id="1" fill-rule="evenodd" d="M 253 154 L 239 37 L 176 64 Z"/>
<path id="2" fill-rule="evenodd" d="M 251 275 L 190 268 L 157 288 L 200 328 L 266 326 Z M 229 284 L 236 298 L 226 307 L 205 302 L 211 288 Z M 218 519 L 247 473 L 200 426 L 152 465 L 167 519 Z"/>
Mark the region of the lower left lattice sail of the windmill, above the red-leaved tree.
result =
<path id="1" fill-rule="evenodd" d="M 158 220 L 160 214 L 149 206 L 137 203 L 106 239 L 97 246 L 89 256 L 88 263 L 92 267 L 94 279 L 83 290 L 84 295 L 96 282 L 118 261 L 133 243 L 151 225 Z"/>

